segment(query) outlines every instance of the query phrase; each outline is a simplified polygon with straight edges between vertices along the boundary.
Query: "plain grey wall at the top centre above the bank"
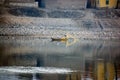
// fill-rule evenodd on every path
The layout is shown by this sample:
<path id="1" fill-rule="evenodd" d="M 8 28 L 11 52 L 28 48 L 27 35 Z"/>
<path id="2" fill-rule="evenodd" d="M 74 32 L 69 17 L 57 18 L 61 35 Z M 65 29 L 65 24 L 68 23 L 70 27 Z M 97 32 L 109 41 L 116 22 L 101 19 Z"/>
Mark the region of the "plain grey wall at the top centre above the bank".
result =
<path id="1" fill-rule="evenodd" d="M 46 0 L 46 8 L 81 9 L 86 8 L 87 0 Z"/>

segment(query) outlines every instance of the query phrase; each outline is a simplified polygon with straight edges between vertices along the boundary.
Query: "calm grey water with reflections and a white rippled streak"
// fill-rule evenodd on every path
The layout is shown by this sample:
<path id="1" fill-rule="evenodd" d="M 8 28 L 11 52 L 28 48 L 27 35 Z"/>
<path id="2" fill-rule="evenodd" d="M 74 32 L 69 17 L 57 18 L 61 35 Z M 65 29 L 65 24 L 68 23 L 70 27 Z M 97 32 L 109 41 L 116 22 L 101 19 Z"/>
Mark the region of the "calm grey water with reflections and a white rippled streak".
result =
<path id="1" fill-rule="evenodd" d="M 120 43 L 3 39 L 0 80 L 120 80 Z"/>

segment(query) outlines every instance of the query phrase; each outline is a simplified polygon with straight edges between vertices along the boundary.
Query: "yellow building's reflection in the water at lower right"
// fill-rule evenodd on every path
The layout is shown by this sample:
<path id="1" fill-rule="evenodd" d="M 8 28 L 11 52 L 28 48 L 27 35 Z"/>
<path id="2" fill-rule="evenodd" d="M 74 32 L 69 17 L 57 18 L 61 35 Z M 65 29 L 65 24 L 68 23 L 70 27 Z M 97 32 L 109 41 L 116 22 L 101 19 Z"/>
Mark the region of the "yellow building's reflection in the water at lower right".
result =
<path id="1" fill-rule="evenodd" d="M 116 77 L 114 64 L 103 60 L 97 62 L 96 73 L 97 80 L 114 80 Z"/>

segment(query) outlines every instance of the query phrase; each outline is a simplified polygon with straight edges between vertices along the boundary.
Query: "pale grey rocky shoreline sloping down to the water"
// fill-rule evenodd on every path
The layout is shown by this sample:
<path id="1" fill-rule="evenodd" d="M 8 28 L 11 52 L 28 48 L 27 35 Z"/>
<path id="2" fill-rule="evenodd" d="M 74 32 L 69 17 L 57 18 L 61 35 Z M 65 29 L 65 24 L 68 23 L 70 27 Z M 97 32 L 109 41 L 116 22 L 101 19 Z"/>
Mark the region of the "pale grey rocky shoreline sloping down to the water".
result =
<path id="1" fill-rule="evenodd" d="M 79 10 L 78 12 L 85 14 L 81 18 L 67 18 L 63 14 L 61 15 L 63 17 L 56 18 L 55 15 L 57 16 L 58 13 L 51 15 L 53 18 L 1 15 L 0 36 L 56 38 L 69 34 L 80 39 L 120 40 L 119 18 L 99 19 L 92 13 L 92 10 Z M 111 24 L 110 21 L 116 24 Z"/>

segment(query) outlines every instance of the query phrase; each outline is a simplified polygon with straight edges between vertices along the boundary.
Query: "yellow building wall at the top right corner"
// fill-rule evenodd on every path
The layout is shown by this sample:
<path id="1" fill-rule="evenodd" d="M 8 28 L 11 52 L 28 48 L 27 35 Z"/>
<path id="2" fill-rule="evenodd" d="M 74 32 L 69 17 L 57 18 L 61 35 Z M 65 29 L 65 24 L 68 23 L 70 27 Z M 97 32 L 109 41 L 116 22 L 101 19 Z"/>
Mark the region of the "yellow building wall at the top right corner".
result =
<path id="1" fill-rule="evenodd" d="M 106 0 L 97 0 L 97 7 L 108 7 L 108 8 L 116 8 L 117 0 L 109 0 L 109 4 L 106 4 Z"/>

